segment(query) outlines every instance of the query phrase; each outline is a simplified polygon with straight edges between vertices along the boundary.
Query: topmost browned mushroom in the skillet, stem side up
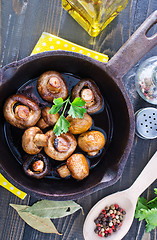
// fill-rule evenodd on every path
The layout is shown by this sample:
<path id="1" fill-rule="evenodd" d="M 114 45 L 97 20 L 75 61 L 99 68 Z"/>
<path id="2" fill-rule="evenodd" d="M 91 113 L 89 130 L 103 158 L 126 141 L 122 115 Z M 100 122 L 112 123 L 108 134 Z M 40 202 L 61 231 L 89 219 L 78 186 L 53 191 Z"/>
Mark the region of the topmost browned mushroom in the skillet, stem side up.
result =
<path id="1" fill-rule="evenodd" d="M 62 75 L 55 71 L 43 73 L 37 81 L 38 92 L 43 99 L 53 102 L 54 98 L 66 99 L 68 89 Z"/>

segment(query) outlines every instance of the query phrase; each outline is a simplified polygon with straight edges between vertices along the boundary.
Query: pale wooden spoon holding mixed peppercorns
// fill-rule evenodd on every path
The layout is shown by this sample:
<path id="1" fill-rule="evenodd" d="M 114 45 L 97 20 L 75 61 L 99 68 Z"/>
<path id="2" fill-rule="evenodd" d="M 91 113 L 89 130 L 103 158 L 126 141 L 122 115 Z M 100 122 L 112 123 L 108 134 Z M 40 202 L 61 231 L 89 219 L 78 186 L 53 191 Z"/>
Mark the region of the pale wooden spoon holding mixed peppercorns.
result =
<path id="1" fill-rule="evenodd" d="M 108 236 L 108 240 L 120 240 L 129 231 L 134 219 L 135 208 L 138 197 L 144 192 L 157 179 L 157 152 L 153 155 L 151 160 L 145 166 L 141 174 L 138 176 L 132 186 L 124 191 L 111 194 L 100 200 L 88 213 L 84 227 L 83 235 L 85 240 L 100 240 L 94 229 L 96 227 L 94 220 L 98 217 L 99 213 L 105 206 L 118 204 L 126 211 L 122 226 L 117 232 L 113 232 Z"/>

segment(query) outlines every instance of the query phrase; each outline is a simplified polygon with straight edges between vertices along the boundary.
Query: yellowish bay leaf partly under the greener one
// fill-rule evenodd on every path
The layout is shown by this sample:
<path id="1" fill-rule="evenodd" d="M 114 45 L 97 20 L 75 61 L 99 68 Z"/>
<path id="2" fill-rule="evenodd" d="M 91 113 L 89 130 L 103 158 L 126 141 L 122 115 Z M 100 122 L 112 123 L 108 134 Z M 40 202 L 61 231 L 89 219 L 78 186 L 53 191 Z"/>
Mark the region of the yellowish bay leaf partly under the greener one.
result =
<path id="1" fill-rule="evenodd" d="M 45 219 L 35 216 L 30 212 L 24 212 L 23 210 L 28 209 L 28 206 L 17 204 L 10 204 L 10 206 L 14 208 L 18 212 L 19 216 L 32 228 L 43 233 L 57 233 L 59 235 L 62 235 L 57 231 L 51 219 Z"/>

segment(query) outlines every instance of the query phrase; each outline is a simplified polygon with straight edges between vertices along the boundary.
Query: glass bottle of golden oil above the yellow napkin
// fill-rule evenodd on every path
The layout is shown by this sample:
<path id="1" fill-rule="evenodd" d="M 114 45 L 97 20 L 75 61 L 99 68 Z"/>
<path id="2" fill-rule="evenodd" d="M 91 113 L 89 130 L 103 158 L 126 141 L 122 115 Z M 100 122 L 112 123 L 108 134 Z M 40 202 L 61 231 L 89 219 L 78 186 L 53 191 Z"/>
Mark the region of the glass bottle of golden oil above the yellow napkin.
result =
<path id="1" fill-rule="evenodd" d="M 63 8 L 96 37 L 122 11 L 129 0 L 62 0 Z"/>

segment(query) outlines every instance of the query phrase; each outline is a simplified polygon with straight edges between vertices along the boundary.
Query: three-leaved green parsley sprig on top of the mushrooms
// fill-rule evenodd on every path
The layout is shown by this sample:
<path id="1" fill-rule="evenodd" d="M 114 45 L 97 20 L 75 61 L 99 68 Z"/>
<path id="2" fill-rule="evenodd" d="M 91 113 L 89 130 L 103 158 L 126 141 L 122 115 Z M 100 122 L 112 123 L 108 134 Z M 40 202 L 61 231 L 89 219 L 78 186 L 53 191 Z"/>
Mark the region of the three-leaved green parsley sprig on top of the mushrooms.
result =
<path id="1" fill-rule="evenodd" d="M 83 118 L 84 113 L 86 112 L 86 109 L 83 108 L 86 102 L 83 101 L 80 97 L 75 98 L 73 102 L 70 102 L 70 96 L 65 101 L 63 101 L 62 98 L 57 98 L 53 100 L 53 103 L 54 103 L 53 106 L 48 112 L 50 114 L 56 114 L 64 106 L 62 114 L 60 115 L 58 121 L 56 122 L 53 128 L 53 132 L 56 136 L 59 136 L 62 133 L 66 133 L 69 130 L 70 123 L 64 117 L 68 104 L 70 104 L 68 115 L 71 116 L 72 118 L 77 118 L 77 117 Z"/>

